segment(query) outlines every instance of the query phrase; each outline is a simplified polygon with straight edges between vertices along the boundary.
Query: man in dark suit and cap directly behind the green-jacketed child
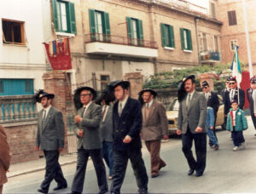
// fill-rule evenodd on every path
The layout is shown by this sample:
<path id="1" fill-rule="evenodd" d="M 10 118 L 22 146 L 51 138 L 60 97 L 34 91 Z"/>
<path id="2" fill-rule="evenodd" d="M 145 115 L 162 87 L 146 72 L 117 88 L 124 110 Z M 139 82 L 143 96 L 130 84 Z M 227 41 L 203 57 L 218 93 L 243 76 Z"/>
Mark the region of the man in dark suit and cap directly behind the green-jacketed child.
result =
<path id="1" fill-rule="evenodd" d="M 230 92 L 225 93 L 225 97 L 224 97 L 224 116 L 225 117 L 227 117 L 230 111 L 232 100 L 237 100 L 239 104 L 239 108 L 243 110 L 243 106 L 245 102 L 245 94 L 241 88 L 237 88 L 236 77 L 230 77 Z"/>

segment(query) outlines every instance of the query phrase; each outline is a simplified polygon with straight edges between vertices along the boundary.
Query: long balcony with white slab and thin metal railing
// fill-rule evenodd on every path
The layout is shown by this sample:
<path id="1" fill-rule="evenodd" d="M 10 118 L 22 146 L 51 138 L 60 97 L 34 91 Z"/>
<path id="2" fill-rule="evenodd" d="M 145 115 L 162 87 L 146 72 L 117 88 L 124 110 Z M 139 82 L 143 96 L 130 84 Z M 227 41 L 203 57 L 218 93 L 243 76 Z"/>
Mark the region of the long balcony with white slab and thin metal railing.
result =
<path id="1" fill-rule="evenodd" d="M 108 34 L 86 34 L 86 54 L 105 54 L 135 58 L 158 56 L 155 42 L 137 38 L 119 37 Z"/>

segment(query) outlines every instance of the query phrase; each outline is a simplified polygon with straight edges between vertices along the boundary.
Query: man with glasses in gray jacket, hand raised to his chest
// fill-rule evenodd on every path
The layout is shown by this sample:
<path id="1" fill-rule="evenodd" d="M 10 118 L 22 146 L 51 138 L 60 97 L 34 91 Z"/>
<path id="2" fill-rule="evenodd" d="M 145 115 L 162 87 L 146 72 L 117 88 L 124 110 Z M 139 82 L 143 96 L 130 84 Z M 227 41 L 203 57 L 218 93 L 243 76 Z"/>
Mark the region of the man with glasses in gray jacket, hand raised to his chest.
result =
<path id="1" fill-rule="evenodd" d="M 92 102 L 96 98 L 96 91 L 93 88 L 78 88 L 74 95 L 80 96 L 81 107 L 75 117 L 74 133 L 78 137 L 78 162 L 73 179 L 72 193 L 81 194 L 83 192 L 86 165 L 88 158 L 91 157 L 96 170 L 99 193 L 103 194 L 108 191 L 108 183 L 106 169 L 102 160 L 100 134 L 102 107 Z"/>

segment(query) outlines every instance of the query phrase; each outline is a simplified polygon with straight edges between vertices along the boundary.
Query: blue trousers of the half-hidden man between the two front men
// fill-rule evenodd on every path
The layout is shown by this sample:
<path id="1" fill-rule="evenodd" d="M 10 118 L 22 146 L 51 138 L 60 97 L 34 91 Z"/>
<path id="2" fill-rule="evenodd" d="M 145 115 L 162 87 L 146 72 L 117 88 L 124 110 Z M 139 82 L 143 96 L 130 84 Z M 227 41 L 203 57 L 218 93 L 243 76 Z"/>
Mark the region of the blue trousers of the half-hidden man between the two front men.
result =
<path id="1" fill-rule="evenodd" d="M 109 176 L 113 175 L 113 142 L 102 142 L 103 158 L 109 168 Z"/>

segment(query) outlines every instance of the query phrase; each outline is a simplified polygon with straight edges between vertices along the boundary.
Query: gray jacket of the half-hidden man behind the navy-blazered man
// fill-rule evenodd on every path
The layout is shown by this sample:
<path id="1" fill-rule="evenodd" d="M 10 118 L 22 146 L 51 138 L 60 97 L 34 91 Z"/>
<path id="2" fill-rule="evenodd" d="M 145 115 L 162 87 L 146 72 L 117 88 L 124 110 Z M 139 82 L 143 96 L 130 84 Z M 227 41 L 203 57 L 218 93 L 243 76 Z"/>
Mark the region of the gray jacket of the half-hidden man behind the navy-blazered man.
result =
<path id="1" fill-rule="evenodd" d="M 101 123 L 102 141 L 113 142 L 113 105 L 108 107 L 104 122 Z"/>

